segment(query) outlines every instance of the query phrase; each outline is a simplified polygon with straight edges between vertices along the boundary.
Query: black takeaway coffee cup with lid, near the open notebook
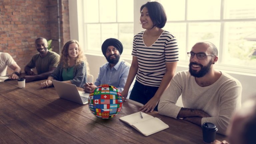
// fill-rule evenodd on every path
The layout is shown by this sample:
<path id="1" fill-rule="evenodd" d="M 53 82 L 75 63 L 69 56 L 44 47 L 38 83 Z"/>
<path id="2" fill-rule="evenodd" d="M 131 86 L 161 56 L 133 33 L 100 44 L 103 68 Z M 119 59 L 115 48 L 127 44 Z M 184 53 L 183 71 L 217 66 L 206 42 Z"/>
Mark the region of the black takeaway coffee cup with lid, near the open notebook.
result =
<path id="1" fill-rule="evenodd" d="M 203 123 L 203 140 L 206 143 L 211 143 L 215 140 L 216 131 L 218 128 L 213 123 Z"/>

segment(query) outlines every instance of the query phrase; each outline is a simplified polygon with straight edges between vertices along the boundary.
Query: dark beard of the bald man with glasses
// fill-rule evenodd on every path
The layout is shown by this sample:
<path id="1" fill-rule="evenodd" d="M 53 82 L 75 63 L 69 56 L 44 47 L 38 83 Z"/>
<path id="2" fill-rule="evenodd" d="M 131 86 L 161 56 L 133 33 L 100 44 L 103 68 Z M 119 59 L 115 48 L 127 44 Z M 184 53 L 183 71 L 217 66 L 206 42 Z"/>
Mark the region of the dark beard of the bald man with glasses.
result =
<path id="1" fill-rule="evenodd" d="M 201 70 L 199 70 L 198 72 L 196 70 L 192 70 L 193 64 L 199 65 L 201 67 Z M 212 61 L 210 61 L 206 66 L 203 66 L 195 62 L 191 62 L 189 63 L 189 73 L 194 77 L 198 77 L 198 78 L 203 77 L 211 70 L 211 65 L 212 65 Z"/>

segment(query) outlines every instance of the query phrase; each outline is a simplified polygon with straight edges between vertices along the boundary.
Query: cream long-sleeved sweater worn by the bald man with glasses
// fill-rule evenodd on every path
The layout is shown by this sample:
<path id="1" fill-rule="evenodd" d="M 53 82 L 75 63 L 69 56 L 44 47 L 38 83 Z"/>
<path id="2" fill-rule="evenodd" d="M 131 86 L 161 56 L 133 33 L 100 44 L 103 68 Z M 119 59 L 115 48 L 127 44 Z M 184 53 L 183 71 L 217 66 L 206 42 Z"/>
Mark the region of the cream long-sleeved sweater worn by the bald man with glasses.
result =
<path id="1" fill-rule="evenodd" d="M 184 108 L 203 110 L 211 116 L 202 118 L 201 124 L 214 123 L 218 127 L 217 132 L 225 134 L 233 112 L 241 107 L 241 92 L 241 83 L 226 73 L 222 73 L 212 85 L 201 87 L 188 71 L 182 71 L 173 77 L 163 93 L 158 112 L 177 118 L 181 107 L 175 104 L 182 95 Z"/>

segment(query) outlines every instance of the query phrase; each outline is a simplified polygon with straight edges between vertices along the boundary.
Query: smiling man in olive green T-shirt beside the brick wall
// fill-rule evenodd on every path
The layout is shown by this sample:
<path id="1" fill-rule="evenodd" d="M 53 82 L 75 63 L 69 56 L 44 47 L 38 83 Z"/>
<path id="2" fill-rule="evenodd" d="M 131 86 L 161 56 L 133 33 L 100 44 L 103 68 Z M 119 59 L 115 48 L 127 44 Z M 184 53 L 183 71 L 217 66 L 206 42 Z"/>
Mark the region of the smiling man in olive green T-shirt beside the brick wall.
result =
<path id="1" fill-rule="evenodd" d="M 45 38 L 37 38 L 35 46 L 39 53 L 35 54 L 25 67 L 27 76 L 24 78 L 26 82 L 47 79 L 59 63 L 59 54 L 48 50 L 48 43 Z M 36 68 L 37 75 L 33 72 L 33 68 Z"/>

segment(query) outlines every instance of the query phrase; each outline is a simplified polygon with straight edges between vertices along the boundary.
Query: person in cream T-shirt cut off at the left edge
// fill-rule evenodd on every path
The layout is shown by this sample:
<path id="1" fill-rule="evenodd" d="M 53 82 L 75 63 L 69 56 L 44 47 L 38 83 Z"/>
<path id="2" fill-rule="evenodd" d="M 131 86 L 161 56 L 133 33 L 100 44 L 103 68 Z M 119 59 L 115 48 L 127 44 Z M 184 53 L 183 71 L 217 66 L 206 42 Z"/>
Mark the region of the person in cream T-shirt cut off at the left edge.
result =
<path id="1" fill-rule="evenodd" d="M 21 73 L 21 68 L 14 61 L 12 56 L 8 53 L 0 52 L 0 76 L 6 76 L 7 67 L 11 68 L 14 72 L 9 75 L 9 79 L 18 79 Z"/>

